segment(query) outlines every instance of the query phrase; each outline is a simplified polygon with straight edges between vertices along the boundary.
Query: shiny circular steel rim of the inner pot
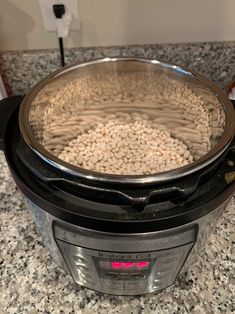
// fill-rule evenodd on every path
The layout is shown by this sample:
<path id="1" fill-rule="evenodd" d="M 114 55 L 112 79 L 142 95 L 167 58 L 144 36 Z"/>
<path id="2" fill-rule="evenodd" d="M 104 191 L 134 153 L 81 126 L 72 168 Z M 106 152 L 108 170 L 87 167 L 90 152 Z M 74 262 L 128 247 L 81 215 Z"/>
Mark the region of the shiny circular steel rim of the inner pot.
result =
<path id="1" fill-rule="evenodd" d="M 76 68 L 84 67 L 87 65 L 104 63 L 104 62 L 118 62 L 118 61 L 133 61 L 133 62 L 144 62 L 160 65 L 164 68 L 168 68 L 173 71 L 178 71 L 184 73 L 185 75 L 190 75 L 194 77 L 196 80 L 200 81 L 201 84 L 205 85 L 213 94 L 217 97 L 219 102 L 222 104 L 225 117 L 226 117 L 226 125 L 222 138 L 219 142 L 204 156 L 199 158 L 198 160 L 191 162 L 190 164 L 176 168 L 170 171 L 160 172 L 156 174 L 148 174 L 148 175 L 114 175 L 114 174 L 105 174 L 99 173 L 91 170 L 86 170 L 72 164 L 69 164 L 52 153 L 46 150 L 34 137 L 33 132 L 31 130 L 29 124 L 29 110 L 30 105 L 34 99 L 34 97 L 38 94 L 38 92 L 54 78 L 63 75 L 70 70 L 74 70 Z M 19 127 L 21 134 L 27 143 L 27 145 L 31 148 L 31 150 L 36 153 L 41 159 L 50 164 L 51 166 L 63 171 L 66 174 L 73 175 L 77 178 L 87 179 L 89 181 L 95 182 L 105 182 L 105 183 L 118 183 L 118 184 L 153 184 L 153 183 L 163 183 L 173 179 L 179 179 L 191 173 L 194 173 L 213 161 L 215 161 L 219 156 L 221 156 L 228 146 L 230 145 L 235 130 L 234 124 L 234 109 L 227 98 L 227 96 L 223 93 L 223 91 L 211 80 L 205 78 L 201 74 L 198 74 L 195 71 L 188 70 L 186 68 L 182 68 L 176 65 L 160 62 L 155 59 L 145 59 L 145 58 L 136 58 L 136 57 L 114 57 L 114 58 L 102 58 L 96 59 L 93 61 L 82 62 L 82 63 L 74 63 L 72 65 L 68 65 L 63 69 L 57 70 L 54 73 L 46 76 L 39 83 L 37 83 L 32 90 L 24 97 L 23 102 L 20 106 L 19 112 Z"/>

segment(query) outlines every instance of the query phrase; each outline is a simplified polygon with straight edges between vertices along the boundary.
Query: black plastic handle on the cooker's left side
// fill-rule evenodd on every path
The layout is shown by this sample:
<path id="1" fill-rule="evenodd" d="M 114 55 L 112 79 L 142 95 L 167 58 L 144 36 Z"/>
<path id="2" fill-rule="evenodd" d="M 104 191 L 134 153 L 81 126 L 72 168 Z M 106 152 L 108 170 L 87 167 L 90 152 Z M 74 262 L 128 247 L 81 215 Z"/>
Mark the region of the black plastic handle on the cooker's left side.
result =
<path id="1" fill-rule="evenodd" d="M 0 149 L 4 150 L 4 136 L 7 123 L 15 111 L 20 106 L 23 96 L 11 96 L 0 101 Z"/>

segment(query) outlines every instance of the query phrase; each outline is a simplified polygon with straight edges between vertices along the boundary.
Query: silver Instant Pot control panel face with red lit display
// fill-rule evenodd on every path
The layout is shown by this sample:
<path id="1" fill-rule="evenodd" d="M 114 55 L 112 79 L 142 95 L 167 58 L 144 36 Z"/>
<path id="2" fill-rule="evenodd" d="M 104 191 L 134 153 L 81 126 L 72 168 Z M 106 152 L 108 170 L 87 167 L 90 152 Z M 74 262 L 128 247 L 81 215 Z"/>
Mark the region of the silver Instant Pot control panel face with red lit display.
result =
<path id="1" fill-rule="evenodd" d="M 75 282 L 119 295 L 150 293 L 170 286 L 194 245 L 191 241 L 158 251 L 119 253 L 56 241 Z"/>

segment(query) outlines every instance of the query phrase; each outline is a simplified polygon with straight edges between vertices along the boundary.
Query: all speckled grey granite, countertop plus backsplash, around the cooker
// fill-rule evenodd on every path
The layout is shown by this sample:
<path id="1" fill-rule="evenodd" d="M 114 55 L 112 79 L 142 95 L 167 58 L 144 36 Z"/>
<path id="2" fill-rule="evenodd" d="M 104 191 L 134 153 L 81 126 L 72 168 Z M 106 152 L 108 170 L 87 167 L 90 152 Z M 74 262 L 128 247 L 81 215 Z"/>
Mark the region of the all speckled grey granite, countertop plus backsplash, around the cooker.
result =
<path id="1" fill-rule="evenodd" d="M 162 55 L 160 59 L 175 59 L 180 65 L 189 65 L 191 60 L 191 67 L 213 77 L 222 87 L 234 75 L 234 43 L 89 48 L 71 50 L 67 52 L 67 58 L 70 61 L 89 59 L 104 55 L 104 51 L 109 52 L 107 55 L 117 55 L 120 49 L 123 49 L 123 55 L 130 55 L 130 49 L 136 55 L 142 52 L 142 56 L 146 57 L 160 58 Z M 59 66 L 55 51 L 2 53 L 0 62 L 3 61 L 4 77 L 12 94 L 26 92 L 42 76 Z M 233 313 L 234 230 L 233 200 L 218 221 L 196 264 L 187 274 L 181 275 L 173 287 L 163 292 L 141 297 L 115 297 L 75 288 L 71 278 L 56 266 L 43 247 L 0 152 L 0 314 Z"/>

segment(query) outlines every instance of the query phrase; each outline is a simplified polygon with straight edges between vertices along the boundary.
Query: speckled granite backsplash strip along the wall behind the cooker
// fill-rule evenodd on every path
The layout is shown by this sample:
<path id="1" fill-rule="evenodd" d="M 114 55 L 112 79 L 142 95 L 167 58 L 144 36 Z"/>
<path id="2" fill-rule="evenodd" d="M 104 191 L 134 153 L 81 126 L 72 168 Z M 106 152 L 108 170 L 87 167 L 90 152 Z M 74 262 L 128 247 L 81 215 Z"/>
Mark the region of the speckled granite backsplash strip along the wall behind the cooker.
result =
<path id="1" fill-rule="evenodd" d="M 206 75 L 222 88 L 235 80 L 235 42 L 89 47 L 65 50 L 65 62 L 116 56 L 157 59 Z M 0 72 L 10 94 L 26 93 L 47 74 L 60 68 L 57 50 L 0 51 Z"/>

